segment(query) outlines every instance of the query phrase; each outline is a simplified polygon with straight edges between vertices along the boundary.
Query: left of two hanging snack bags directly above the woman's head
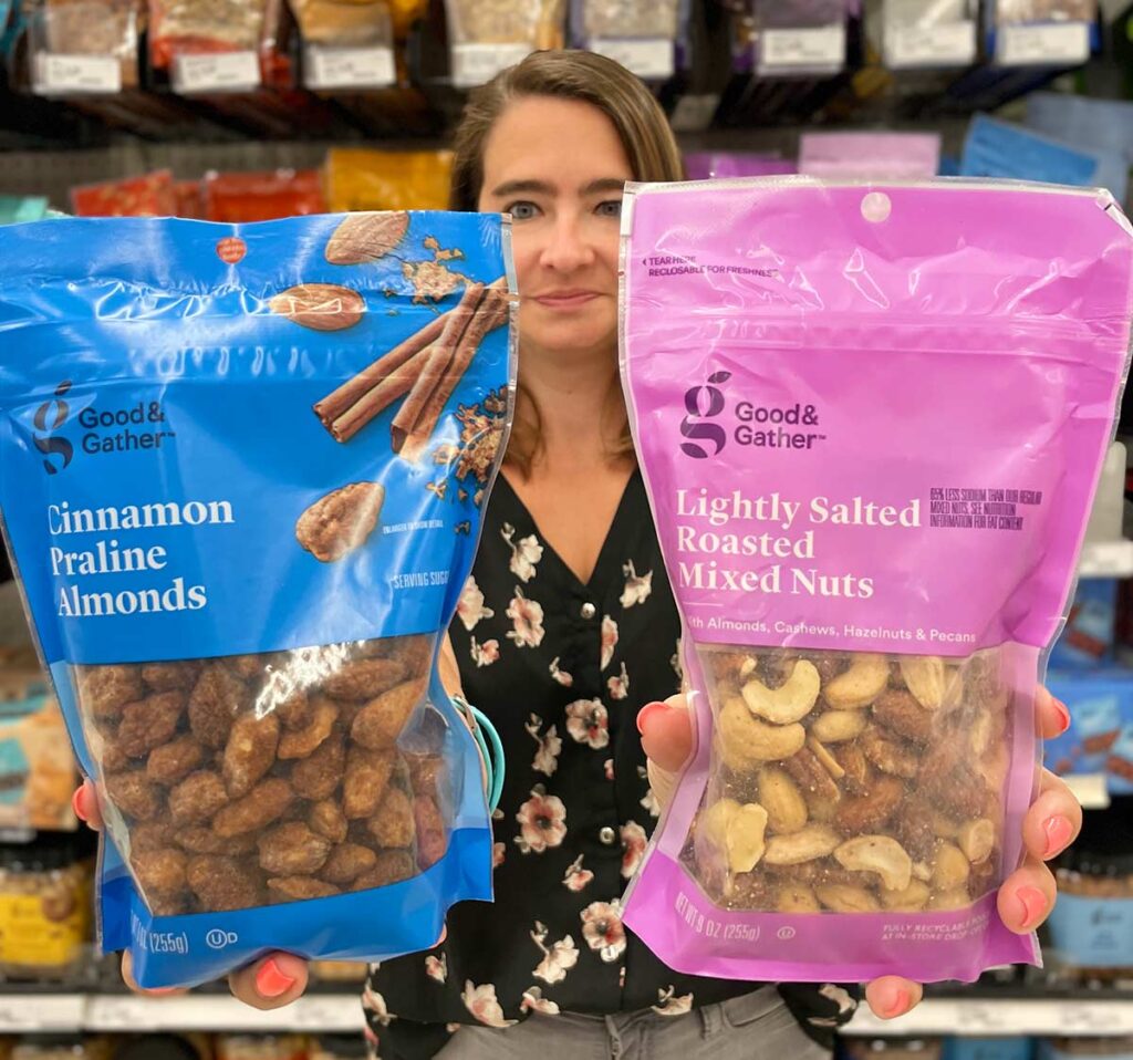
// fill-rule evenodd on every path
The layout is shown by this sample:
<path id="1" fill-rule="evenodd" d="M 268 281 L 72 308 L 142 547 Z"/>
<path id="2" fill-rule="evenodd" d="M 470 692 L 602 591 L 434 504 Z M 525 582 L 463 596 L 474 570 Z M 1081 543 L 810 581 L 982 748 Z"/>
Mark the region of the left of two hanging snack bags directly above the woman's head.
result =
<path id="1" fill-rule="evenodd" d="M 444 8 L 458 88 L 492 80 L 536 49 L 563 46 L 565 0 L 445 0 Z"/>

